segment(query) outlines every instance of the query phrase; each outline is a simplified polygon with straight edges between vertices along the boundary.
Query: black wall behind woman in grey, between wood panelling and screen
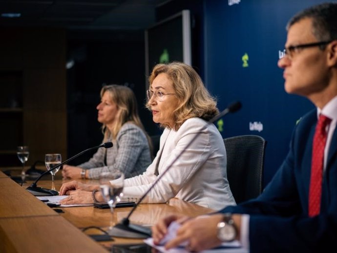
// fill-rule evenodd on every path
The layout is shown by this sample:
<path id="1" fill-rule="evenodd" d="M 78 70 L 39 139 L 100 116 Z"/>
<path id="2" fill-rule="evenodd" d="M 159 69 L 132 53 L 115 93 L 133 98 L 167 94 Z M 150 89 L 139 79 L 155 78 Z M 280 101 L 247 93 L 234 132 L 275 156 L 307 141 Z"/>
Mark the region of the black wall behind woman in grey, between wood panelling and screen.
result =
<path id="1" fill-rule="evenodd" d="M 103 32 L 102 32 L 103 33 Z M 101 124 L 97 121 L 96 106 L 104 84 L 129 86 L 136 94 L 138 109 L 146 129 L 153 127 L 150 113 L 145 109 L 145 56 L 144 34 L 136 33 L 131 39 L 110 38 L 113 32 L 82 38 L 69 35 L 68 61 L 74 65 L 68 76 L 68 157 L 96 145 L 103 140 Z M 95 39 L 92 39 L 95 38 Z M 74 160 L 79 164 L 95 152 Z"/>

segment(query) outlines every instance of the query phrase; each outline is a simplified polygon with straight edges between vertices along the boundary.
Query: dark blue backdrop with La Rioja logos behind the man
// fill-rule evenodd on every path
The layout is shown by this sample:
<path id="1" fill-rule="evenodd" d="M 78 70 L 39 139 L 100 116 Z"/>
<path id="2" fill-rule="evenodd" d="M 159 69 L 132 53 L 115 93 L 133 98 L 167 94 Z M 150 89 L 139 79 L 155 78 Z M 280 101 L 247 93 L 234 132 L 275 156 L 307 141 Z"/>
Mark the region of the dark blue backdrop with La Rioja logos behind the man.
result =
<path id="1" fill-rule="evenodd" d="M 235 3 L 236 2 L 236 3 Z M 260 135 L 268 141 L 264 184 L 289 149 L 296 121 L 314 108 L 284 91 L 277 67 L 286 42 L 287 21 L 319 0 L 205 0 L 205 83 L 224 109 L 242 109 L 218 124 L 223 137 Z"/>

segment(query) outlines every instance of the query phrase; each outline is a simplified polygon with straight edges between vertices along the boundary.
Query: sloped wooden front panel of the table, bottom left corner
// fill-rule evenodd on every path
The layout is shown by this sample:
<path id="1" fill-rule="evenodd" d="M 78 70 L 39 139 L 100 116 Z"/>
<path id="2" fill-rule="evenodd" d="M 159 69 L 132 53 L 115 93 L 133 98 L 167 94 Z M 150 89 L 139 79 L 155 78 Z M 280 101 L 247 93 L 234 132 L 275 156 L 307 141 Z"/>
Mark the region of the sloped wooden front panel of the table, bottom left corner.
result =
<path id="1" fill-rule="evenodd" d="M 0 178 L 0 252 L 95 252 L 104 247 L 10 178 Z"/>

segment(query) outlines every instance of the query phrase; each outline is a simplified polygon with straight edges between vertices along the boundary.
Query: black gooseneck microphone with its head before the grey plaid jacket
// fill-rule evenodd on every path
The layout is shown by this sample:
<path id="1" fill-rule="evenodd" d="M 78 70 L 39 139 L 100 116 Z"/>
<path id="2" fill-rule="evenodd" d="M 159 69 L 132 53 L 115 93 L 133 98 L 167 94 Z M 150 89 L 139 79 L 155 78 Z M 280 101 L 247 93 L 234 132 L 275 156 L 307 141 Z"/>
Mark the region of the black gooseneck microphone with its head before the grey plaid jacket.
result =
<path id="1" fill-rule="evenodd" d="M 42 188 L 42 187 L 37 187 L 36 184 L 37 182 L 40 180 L 40 178 L 42 178 L 42 176 L 44 176 L 45 174 L 47 174 L 48 172 L 52 171 L 53 169 L 56 169 L 60 166 L 62 166 L 63 164 L 75 159 L 76 157 L 82 155 L 83 153 L 91 150 L 91 149 L 95 149 L 95 148 L 111 148 L 113 146 L 112 142 L 106 142 L 102 145 L 96 146 L 96 147 L 92 147 L 92 148 L 88 148 L 85 149 L 84 151 L 78 153 L 77 155 L 70 157 L 68 160 L 65 160 L 64 162 L 54 166 L 53 168 L 48 169 L 47 171 L 44 171 L 36 180 L 34 183 L 32 183 L 29 187 L 26 188 L 26 190 L 28 190 L 30 193 L 32 193 L 34 196 L 56 196 L 59 195 L 59 192 L 56 190 L 51 190 L 51 189 L 46 189 L 46 188 Z"/>

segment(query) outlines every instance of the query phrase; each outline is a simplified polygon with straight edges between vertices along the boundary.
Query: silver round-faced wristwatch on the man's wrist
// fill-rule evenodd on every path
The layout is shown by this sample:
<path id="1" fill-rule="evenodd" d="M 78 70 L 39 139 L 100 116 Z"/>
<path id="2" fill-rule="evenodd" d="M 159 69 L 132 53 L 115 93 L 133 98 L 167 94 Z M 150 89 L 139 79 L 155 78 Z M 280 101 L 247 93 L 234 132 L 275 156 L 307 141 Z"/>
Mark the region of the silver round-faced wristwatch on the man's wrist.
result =
<path id="1" fill-rule="evenodd" d="M 223 220 L 220 221 L 217 225 L 217 229 L 218 239 L 222 242 L 230 242 L 236 238 L 237 229 L 235 227 L 231 213 L 224 214 Z"/>

